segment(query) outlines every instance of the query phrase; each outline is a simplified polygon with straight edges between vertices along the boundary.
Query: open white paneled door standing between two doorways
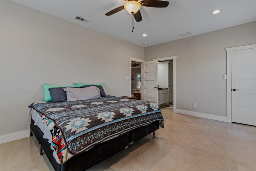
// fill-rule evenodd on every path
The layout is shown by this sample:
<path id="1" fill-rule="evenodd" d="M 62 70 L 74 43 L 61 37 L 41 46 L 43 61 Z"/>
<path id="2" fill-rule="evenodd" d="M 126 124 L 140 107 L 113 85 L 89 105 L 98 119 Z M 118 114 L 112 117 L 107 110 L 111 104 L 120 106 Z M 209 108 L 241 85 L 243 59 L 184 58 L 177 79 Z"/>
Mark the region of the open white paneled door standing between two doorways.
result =
<path id="1" fill-rule="evenodd" d="M 157 103 L 157 61 L 142 63 L 141 100 Z"/>

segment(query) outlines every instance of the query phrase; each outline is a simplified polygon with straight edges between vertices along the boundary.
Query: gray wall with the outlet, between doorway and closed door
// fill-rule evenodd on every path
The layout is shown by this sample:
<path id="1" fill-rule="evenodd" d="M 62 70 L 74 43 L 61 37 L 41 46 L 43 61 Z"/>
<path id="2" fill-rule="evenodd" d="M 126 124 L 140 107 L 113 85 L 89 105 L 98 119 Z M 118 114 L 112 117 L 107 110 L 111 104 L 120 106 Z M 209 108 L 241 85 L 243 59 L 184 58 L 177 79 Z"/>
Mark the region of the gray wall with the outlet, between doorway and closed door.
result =
<path id="1" fill-rule="evenodd" d="M 177 109 L 227 116 L 225 48 L 255 43 L 256 22 L 251 22 L 150 46 L 145 61 L 177 56 Z"/>

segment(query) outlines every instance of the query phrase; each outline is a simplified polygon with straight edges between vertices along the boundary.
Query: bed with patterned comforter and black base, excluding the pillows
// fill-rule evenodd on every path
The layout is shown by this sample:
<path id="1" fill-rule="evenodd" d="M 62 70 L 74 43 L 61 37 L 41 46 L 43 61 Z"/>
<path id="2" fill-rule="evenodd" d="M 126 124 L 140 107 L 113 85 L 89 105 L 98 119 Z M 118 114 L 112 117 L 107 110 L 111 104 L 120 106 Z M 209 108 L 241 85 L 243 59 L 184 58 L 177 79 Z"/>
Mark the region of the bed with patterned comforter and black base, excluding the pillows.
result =
<path id="1" fill-rule="evenodd" d="M 89 169 L 164 127 L 156 103 L 109 95 L 29 107 L 30 135 L 56 171 Z"/>

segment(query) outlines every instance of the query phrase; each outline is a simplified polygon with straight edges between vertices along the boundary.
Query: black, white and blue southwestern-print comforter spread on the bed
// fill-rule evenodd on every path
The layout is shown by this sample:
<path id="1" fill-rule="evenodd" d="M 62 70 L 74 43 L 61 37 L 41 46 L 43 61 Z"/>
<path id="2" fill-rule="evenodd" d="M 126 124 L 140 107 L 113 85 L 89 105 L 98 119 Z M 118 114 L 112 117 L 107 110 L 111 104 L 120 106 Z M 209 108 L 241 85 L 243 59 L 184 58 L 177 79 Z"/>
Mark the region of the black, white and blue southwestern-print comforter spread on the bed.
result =
<path id="1" fill-rule="evenodd" d="M 63 151 L 71 154 L 64 156 L 72 157 L 108 138 L 154 121 L 164 127 L 158 105 L 149 101 L 106 96 L 58 103 L 40 101 L 29 107 L 39 113 L 48 128 L 52 123 L 52 146 L 61 163 L 69 158 L 63 157 Z"/>

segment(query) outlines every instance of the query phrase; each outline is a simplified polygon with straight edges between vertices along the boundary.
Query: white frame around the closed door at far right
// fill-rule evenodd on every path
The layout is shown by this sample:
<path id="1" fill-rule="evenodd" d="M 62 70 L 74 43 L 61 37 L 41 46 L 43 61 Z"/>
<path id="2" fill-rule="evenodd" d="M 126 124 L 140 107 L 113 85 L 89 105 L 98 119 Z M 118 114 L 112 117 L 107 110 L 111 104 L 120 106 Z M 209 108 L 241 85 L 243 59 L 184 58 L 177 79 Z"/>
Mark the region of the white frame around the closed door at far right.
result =
<path id="1" fill-rule="evenodd" d="M 245 49 L 252 49 L 256 48 L 256 44 L 246 45 L 246 46 L 237 46 L 233 48 L 225 48 L 227 52 L 227 117 L 228 122 L 232 122 L 232 56 L 231 52 L 236 50 L 245 50 Z"/>

